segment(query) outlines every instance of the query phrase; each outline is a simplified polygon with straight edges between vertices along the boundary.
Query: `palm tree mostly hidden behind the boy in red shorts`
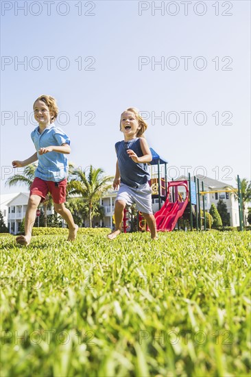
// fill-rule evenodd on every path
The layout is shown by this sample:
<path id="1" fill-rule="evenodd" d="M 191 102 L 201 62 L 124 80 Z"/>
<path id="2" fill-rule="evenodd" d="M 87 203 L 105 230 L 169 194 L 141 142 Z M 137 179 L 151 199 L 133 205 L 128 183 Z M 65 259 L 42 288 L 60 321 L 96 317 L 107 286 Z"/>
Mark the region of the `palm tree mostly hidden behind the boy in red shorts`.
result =
<path id="1" fill-rule="evenodd" d="M 5 186 L 16 186 L 18 184 L 25 185 L 28 189 L 32 186 L 32 182 L 35 178 L 35 171 L 36 171 L 37 164 L 33 163 L 30 165 L 27 165 L 23 169 L 23 174 L 14 174 L 11 177 L 8 178 L 8 180 L 5 182 Z M 43 210 L 44 210 L 44 220 L 45 220 L 45 227 L 47 227 L 47 206 L 51 202 L 50 195 L 47 195 L 43 202 Z"/>

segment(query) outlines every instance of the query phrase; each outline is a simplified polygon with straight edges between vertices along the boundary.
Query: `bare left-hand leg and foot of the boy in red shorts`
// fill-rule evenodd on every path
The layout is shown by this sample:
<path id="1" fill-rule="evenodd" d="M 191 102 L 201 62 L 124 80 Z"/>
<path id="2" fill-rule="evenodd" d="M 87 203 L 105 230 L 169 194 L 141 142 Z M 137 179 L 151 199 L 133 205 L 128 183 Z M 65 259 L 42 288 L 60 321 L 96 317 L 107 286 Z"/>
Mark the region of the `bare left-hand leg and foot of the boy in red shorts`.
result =
<path id="1" fill-rule="evenodd" d="M 36 208 L 38 208 L 40 200 L 41 197 L 38 195 L 31 195 L 29 197 L 29 202 L 25 213 L 25 235 L 16 237 L 16 242 L 20 243 L 21 245 L 29 245 L 30 240 L 32 239 L 32 228 L 36 220 Z"/>

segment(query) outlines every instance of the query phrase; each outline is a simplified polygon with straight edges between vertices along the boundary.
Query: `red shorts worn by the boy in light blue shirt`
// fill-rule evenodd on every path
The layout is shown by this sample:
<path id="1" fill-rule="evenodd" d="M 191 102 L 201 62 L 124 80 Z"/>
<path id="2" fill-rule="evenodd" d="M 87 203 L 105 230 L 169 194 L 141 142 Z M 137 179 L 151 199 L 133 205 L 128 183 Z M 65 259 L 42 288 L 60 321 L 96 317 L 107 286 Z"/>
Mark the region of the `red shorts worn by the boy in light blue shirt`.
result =
<path id="1" fill-rule="evenodd" d="M 35 178 L 30 188 L 29 195 L 40 196 L 41 202 L 45 200 L 47 193 L 51 193 L 53 202 L 61 204 L 66 202 L 67 198 L 67 178 L 61 182 L 44 181 L 40 178 Z"/>

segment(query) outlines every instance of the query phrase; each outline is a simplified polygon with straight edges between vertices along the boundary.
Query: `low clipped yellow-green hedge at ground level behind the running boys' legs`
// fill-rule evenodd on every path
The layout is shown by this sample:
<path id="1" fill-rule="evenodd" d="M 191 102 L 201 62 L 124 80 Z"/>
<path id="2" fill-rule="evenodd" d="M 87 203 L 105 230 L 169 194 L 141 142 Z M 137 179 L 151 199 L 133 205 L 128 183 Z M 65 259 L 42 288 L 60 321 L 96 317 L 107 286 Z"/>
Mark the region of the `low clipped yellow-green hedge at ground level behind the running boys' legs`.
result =
<path id="1" fill-rule="evenodd" d="M 77 234 L 108 234 L 110 228 L 79 228 Z M 32 236 L 44 236 L 45 234 L 68 234 L 68 228 L 33 228 Z"/>

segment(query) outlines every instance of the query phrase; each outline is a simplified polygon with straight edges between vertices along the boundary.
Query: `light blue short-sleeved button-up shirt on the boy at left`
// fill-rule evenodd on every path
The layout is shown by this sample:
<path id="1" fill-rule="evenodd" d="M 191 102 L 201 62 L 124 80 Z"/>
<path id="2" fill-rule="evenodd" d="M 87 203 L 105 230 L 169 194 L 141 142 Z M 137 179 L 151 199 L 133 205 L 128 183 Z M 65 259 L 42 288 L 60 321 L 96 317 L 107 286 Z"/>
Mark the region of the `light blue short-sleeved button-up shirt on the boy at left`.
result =
<path id="1" fill-rule="evenodd" d="M 68 161 L 66 156 L 55 151 L 45 154 L 38 154 L 40 148 L 46 148 L 51 145 L 60 146 L 64 143 L 70 144 L 67 134 L 53 123 L 39 133 L 39 126 L 31 134 L 32 141 L 36 147 L 38 156 L 38 167 L 36 168 L 35 177 L 45 181 L 60 182 L 67 177 Z"/>

